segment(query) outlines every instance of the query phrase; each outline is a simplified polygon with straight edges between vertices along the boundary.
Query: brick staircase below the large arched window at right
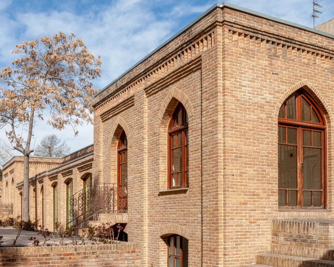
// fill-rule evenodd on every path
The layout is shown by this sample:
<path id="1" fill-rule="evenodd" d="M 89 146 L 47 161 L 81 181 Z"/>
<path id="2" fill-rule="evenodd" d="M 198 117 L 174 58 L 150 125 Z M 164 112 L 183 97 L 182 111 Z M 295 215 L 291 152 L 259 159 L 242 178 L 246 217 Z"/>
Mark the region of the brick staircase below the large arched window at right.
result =
<path id="1" fill-rule="evenodd" d="M 334 219 L 273 221 L 270 253 L 246 266 L 334 267 Z"/>

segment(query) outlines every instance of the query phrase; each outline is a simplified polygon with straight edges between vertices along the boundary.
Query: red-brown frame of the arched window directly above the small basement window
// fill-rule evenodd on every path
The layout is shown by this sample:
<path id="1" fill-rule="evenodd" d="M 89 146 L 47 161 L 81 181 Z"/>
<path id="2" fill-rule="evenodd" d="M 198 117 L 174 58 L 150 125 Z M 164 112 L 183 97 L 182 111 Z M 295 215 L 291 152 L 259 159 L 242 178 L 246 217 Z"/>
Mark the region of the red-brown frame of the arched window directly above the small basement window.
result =
<path id="1" fill-rule="evenodd" d="M 177 114 L 179 111 L 182 110 L 182 122 L 183 125 L 173 127 L 175 120 L 177 119 Z M 187 188 L 189 186 L 188 184 L 188 176 L 189 176 L 189 170 L 187 166 L 187 156 L 186 156 L 186 149 L 189 146 L 189 144 L 186 144 L 186 132 L 189 135 L 188 131 L 188 115 L 185 107 L 182 105 L 181 102 L 177 104 L 175 107 L 169 125 L 168 125 L 168 189 L 178 189 L 178 188 Z M 182 183 L 181 186 L 172 186 L 173 185 L 173 136 L 181 133 L 182 142 Z M 189 139 L 189 137 L 188 137 Z M 189 149 L 189 148 L 188 148 Z M 177 184 L 177 183 L 176 183 Z"/>

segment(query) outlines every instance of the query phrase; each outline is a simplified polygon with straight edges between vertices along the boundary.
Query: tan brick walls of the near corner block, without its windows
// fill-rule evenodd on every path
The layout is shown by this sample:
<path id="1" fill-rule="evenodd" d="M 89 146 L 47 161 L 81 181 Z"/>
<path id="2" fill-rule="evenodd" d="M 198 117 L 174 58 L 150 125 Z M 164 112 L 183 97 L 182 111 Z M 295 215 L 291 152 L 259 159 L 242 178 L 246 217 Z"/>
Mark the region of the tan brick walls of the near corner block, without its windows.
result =
<path id="1" fill-rule="evenodd" d="M 127 223 L 128 241 L 141 244 L 142 266 L 166 266 L 171 234 L 188 240 L 189 266 L 269 265 L 266 257 L 281 266 L 262 253 L 291 249 L 296 255 L 285 256 L 298 256 L 303 242 L 279 243 L 287 235 L 279 225 L 288 227 L 289 218 L 291 225 L 307 225 L 292 218 L 311 218 L 323 226 L 333 218 L 333 45 L 329 34 L 216 5 L 96 95 L 94 159 L 87 160 L 95 184 L 117 183 L 117 143 L 125 131 L 128 212 L 112 221 Z M 326 118 L 324 210 L 278 207 L 278 113 L 300 88 Z M 168 190 L 167 130 L 178 102 L 189 118 L 189 187 Z M 62 166 L 57 179 L 64 186 Z M 43 178 L 46 187 L 55 174 Z M 301 234 L 298 227 L 289 238 Z M 327 228 L 308 239 L 326 240 Z M 299 256 L 330 247 L 313 249 Z"/>

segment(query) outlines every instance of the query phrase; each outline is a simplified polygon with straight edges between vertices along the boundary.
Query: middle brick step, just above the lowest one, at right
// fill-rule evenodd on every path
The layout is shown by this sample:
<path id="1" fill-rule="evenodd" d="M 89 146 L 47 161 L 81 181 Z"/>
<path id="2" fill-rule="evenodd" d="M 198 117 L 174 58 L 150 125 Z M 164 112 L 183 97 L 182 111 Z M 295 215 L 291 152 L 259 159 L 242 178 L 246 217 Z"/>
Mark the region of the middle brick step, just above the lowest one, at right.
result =
<path id="1" fill-rule="evenodd" d="M 272 244 L 271 253 L 334 261 L 334 250 Z"/>

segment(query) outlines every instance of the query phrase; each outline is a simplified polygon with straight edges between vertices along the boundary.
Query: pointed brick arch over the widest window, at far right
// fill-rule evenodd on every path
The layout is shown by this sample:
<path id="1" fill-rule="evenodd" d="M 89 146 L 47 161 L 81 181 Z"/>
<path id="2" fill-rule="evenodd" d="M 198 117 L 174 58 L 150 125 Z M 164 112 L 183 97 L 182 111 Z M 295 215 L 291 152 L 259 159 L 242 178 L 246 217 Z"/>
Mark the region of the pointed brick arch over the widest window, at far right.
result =
<path id="1" fill-rule="evenodd" d="M 329 125 L 330 121 L 332 120 L 331 119 L 332 112 L 330 111 L 331 109 L 329 108 L 321 92 L 309 80 L 302 80 L 296 83 L 294 86 L 289 88 L 287 91 L 285 91 L 284 94 L 281 95 L 279 101 L 276 104 L 276 108 L 275 108 L 276 117 L 278 117 L 278 113 L 284 101 L 289 97 L 289 95 L 291 95 L 292 93 L 294 93 L 300 88 L 305 89 L 312 96 L 312 98 L 317 102 L 317 104 L 319 105 L 319 107 L 321 108 L 322 112 L 325 115 L 326 124 Z"/>

